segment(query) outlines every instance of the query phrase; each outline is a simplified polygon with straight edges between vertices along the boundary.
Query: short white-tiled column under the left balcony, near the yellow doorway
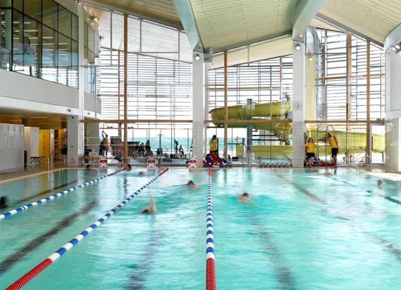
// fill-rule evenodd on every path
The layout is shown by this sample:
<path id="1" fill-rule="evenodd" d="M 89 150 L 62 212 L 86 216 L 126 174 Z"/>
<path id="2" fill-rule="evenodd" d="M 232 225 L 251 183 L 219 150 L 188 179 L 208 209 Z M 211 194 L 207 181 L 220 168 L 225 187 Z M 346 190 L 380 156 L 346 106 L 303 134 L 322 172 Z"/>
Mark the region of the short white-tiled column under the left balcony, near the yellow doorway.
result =
<path id="1" fill-rule="evenodd" d="M 69 165 L 78 166 L 84 155 L 84 123 L 79 116 L 68 116 L 67 144 Z"/>

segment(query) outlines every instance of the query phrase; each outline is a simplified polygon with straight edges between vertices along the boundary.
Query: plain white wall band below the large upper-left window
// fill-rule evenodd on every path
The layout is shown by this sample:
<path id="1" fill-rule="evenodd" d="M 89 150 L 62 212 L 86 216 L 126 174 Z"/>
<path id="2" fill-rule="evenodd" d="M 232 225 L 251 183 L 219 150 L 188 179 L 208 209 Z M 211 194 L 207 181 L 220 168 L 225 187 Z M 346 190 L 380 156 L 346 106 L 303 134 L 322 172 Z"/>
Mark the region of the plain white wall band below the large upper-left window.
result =
<path id="1" fill-rule="evenodd" d="M 78 108 L 78 89 L 6 70 L 0 70 L 0 96 Z"/>

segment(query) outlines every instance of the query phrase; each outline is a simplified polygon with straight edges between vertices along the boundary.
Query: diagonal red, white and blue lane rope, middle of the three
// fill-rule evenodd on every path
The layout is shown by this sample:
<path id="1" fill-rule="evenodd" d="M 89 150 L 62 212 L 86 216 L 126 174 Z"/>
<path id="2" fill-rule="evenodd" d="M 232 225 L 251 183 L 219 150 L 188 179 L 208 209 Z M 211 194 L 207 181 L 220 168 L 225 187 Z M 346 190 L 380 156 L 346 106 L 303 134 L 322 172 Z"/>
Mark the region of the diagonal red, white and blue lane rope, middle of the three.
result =
<path id="1" fill-rule="evenodd" d="M 167 170 L 168 170 L 168 167 L 166 169 L 164 169 L 162 172 L 160 172 L 158 175 L 156 175 L 148 183 L 146 183 L 141 188 L 139 188 L 137 191 L 135 191 L 133 194 L 131 194 L 126 199 L 124 199 L 122 202 L 120 202 L 112 210 L 110 210 L 105 215 L 103 215 L 101 218 L 99 218 L 97 221 L 95 221 L 92 225 L 87 227 L 84 231 L 82 231 L 80 234 L 78 234 L 76 237 L 74 237 L 72 240 L 70 240 L 64 246 L 59 248 L 56 252 L 54 252 L 49 257 L 47 257 L 42 262 L 40 262 L 38 265 L 36 265 L 34 268 L 32 268 L 29 272 L 27 272 L 25 275 L 23 275 L 21 278 L 19 278 L 17 281 L 15 281 L 13 284 L 8 286 L 6 288 L 6 290 L 17 290 L 17 289 L 20 289 L 22 286 L 24 286 L 26 283 L 28 283 L 31 279 L 33 279 L 37 274 L 39 274 L 46 267 L 48 267 L 51 263 L 53 263 L 55 260 L 57 260 L 61 255 L 63 255 L 70 248 L 72 248 L 74 245 L 76 245 L 81 239 L 83 239 L 86 235 L 88 235 L 96 227 L 98 227 L 100 224 L 102 224 L 102 222 L 104 222 L 109 216 L 111 216 L 114 213 L 116 213 L 121 207 L 123 207 L 131 199 L 133 199 L 139 192 L 141 192 L 143 189 L 145 189 L 150 184 L 152 184 L 155 180 L 157 180 L 157 178 L 159 178 Z"/>

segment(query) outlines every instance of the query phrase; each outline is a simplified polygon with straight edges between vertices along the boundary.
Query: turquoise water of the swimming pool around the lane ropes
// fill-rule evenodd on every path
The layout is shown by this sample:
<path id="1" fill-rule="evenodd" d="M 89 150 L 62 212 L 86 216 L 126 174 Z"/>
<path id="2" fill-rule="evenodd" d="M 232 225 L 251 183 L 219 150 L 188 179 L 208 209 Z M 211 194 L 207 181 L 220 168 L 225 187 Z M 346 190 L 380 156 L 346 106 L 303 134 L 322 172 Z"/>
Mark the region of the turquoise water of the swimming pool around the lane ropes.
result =
<path id="1" fill-rule="evenodd" d="M 118 173 L 0 221 L 0 266 L 7 268 L 0 274 L 0 288 L 160 172 L 138 176 L 141 170 L 146 169 Z M 81 184 L 106 173 L 67 172 L 51 177 L 52 186 L 74 180 Z M 335 176 L 304 170 L 212 172 L 219 289 L 400 287 L 398 183 L 384 181 L 377 187 L 377 178 L 346 169 Z M 170 169 L 24 288 L 204 289 L 207 175 L 206 170 Z M 201 183 L 200 188 L 188 189 L 189 179 Z M 15 202 L 45 190 L 46 180 L 2 186 L 2 194 Z M 141 214 L 149 206 L 149 190 L 157 213 Z M 238 201 L 237 194 L 244 191 L 250 202 Z M 5 261 L 24 248 L 26 255 L 8 267 Z"/>

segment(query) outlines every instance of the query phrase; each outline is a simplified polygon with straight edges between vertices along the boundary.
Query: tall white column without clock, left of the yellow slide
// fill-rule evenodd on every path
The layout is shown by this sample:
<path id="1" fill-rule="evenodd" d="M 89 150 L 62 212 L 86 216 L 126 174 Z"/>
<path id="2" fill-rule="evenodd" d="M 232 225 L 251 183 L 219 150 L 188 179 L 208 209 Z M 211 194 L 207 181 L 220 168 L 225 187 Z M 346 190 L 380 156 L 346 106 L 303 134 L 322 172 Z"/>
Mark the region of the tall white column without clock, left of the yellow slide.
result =
<path id="1" fill-rule="evenodd" d="M 199 60 L 195 59 L 196 55 L 199 55 Z M 197 165 L 202 166 L 206 136 L 205 64 L 203 54 L 193 52 L 192 61 L 192 155 L 197 156 Z"/>

